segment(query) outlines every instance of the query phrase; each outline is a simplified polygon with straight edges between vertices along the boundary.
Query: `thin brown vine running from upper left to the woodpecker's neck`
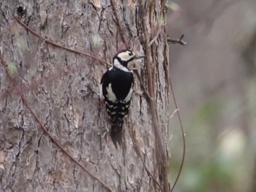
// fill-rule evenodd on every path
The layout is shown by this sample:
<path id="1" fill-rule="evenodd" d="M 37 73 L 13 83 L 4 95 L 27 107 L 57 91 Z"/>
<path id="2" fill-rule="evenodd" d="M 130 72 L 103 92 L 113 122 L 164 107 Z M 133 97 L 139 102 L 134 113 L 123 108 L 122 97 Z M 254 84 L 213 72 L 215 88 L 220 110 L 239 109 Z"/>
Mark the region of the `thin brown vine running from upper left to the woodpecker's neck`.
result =
<path id="1" fill-rule="evenodd" d="M 100 58 L 97 58 L 97 57 L 94 57 L 93 55 L 89 55 L 88 53 L 83 53 L 83 52 L 80 52 L 78 50 L 72 50 L 70 48 L 67 48 L 67 47 L 64 47 L 62 45 L 58 45 L 56 44 L 55 42 L 51 42 L 50 40 L 48 39 L 45 39 L 44 37 L 40 36 L 39 34 L 37 34 L 35 31 L 33 31 L 31 28 L 29 28 L 28 26 L 26 26 L 25 23 L 23 23 L 21 20 L 19 20 L 15 15 L 12 15 L 13 18 L 15 18 L 15 20 L 20 23 L 21 26 L 23 26 L 24 28 L 26 28 L 29 32 L 31 32 L 31 34 L 34 34 L 35 36 L 39 37 L 40 39 L 42 39 L 43 41 L 45 41 L 46 43 L 50 44 L 50 45 L 53 45 L 54 47 L 60 47 L 64 50 L 68 50 L 72 53 L 75 53 L 75 54 L 79 54 L 79 55 L 85 55 L 86 57 L 89 57 L 89 58 L 94 58 L 95 60 L 97 61 L 100 61 L 102 62 L 103 64 L 107 64 L 108 66 L 111 66 L 110 64 L 108 64 L 108 62 L 106 61 L 103 61 L 102 59 Z"/>

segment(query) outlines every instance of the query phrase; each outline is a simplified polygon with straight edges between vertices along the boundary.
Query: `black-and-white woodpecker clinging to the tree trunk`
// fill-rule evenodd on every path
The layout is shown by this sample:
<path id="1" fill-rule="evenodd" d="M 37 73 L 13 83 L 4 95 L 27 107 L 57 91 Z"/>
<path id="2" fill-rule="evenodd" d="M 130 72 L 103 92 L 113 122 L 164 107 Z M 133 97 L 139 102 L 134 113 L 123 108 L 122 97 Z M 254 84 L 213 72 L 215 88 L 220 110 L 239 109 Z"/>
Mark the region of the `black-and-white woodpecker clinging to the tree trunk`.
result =
<path id="1" fill-rule="evenodd" d="M 112 66 L 100 81 L 99 100 L 105 102 L 111 124 L 110 137 L 116 149 L 117 143 L 121 146 L 122 126 L 129 112 L 134 86 L 134 76 L 128 64 L 145 57 L 131 50 L 121 50 L 114 55 Z"/>

